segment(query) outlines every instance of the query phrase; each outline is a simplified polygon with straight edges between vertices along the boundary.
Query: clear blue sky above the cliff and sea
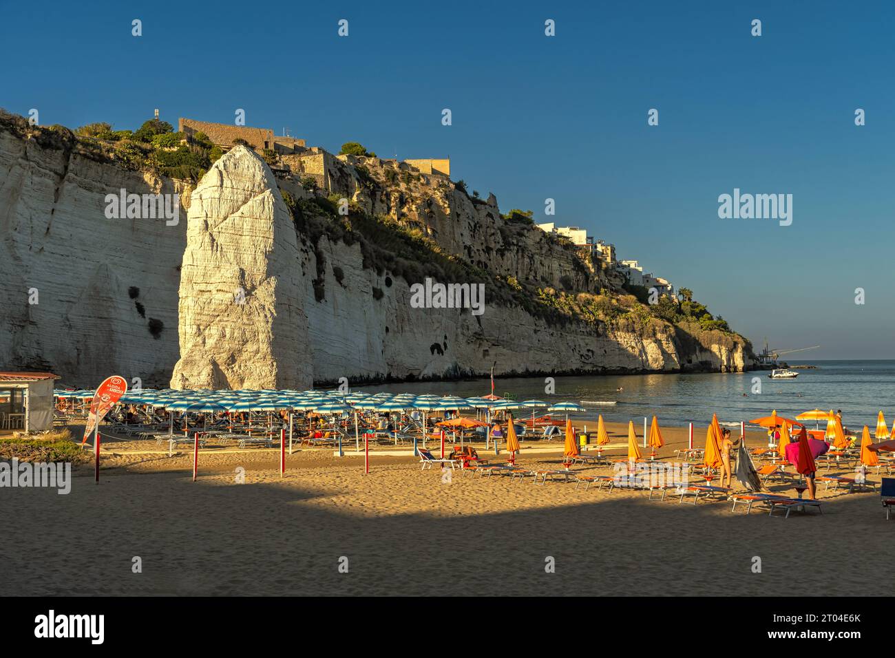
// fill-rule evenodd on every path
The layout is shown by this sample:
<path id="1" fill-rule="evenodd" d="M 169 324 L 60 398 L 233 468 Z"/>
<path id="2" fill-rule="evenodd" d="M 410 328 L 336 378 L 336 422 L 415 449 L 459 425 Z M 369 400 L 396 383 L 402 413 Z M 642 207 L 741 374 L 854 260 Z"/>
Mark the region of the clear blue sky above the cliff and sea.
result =
<path id="1" fill-rule="evenodd" d="M 0 0 L 0 106 L 118 129 L 241 107 L 328 150 L 449 155 L 501 209 L 546 219 L 555 199 L 549 219 L 692 288 L 756 347 L 895 357 L 891 4 L 320 5 Z M 792 193 L 792 226 L 718 218 L 735 187 Z"/>

